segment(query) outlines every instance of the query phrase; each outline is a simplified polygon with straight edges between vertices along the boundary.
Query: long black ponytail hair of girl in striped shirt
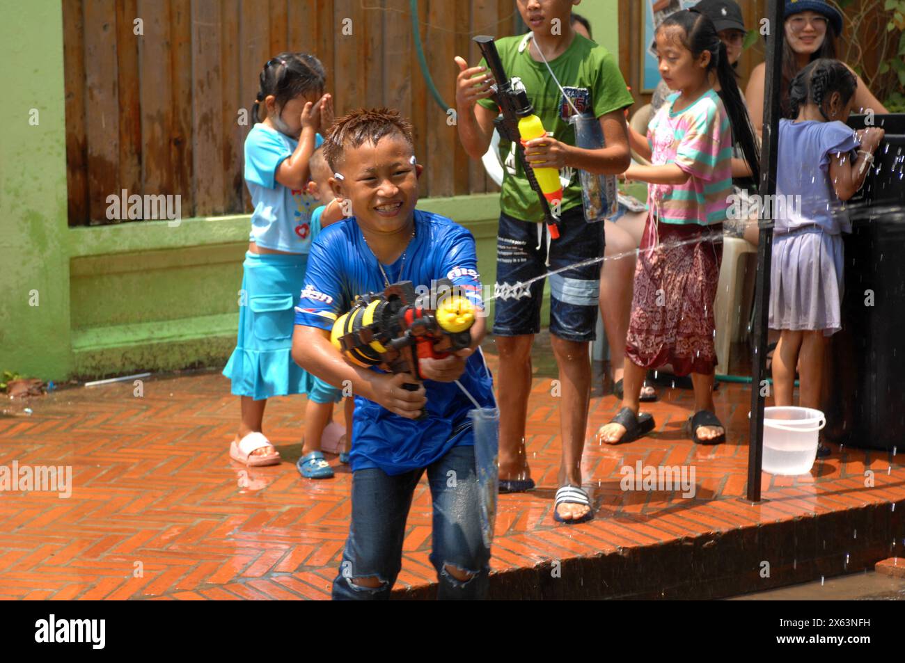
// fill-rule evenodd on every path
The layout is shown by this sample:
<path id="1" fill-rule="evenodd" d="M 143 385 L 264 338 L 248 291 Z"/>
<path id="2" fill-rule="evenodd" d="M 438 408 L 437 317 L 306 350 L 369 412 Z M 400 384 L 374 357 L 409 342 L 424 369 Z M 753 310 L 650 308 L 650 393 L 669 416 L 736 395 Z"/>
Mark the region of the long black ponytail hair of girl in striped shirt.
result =
<path id="1" fill-rule="evenodd" d="M 719 98 L 723 100 L 723 106 L 729 115 L 733 140 L 738 147 L 741 147 L 742 154 L 751 168 L 751 174 L 755 180 L 758 180 L 760 178 L 760 150 L 757 147 L 754 128 L 751 127 L 751 118 L 748 117 L 748 107 L 741 96 L 741 90 L 738 90 L 735 70 L 729 64 L 726 44 L 719 39 L 716 26 L 707 14 L 695 11 L 694 7 L 670 14 L 657 28 L 657 32 L 672 26 L 681 28 L 684 33 L 680 40 L 681 44 L 691 51 L 691 55 L 695 59 L 702 52 L 710 52 L 707 73 L 717 72 Z"/>

